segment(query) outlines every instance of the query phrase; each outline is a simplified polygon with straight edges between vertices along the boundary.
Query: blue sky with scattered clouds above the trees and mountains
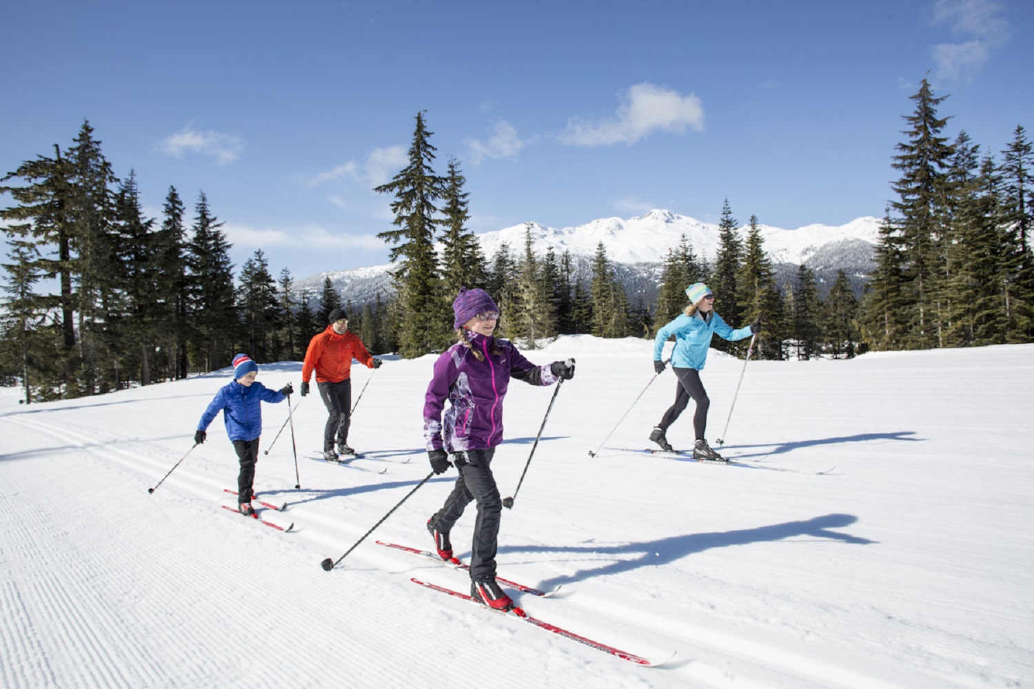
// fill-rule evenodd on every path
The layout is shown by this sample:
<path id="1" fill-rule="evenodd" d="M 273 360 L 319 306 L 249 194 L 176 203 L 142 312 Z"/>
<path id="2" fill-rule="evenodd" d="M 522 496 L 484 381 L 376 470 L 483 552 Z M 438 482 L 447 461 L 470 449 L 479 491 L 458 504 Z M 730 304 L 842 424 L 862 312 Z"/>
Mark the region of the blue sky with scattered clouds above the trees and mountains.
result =
<path id="1" fill-rule="evenodd" d="M 653 208 L 777 227 L 882 216 L 923 76 L 998 154 L 1034 135 L 1026 0 L 8 3 L 0 171 L 84 120 L 146 211 L 200 191 L 239 267 L 387 262 L 425 112 L 477 232 Z M 0 197 L 8 206 L 9 197 Z"/>

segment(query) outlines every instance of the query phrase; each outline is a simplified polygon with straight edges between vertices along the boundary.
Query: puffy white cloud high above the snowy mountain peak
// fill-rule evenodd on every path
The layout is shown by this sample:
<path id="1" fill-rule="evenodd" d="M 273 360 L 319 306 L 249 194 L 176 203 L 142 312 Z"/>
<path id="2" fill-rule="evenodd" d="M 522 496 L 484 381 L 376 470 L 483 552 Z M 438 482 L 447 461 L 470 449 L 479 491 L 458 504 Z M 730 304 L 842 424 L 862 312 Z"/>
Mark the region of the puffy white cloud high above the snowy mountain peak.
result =
<path id="1" fill-rule="evenodd" d="M 614 144 L 632 145 L 655 131 L 681 133 L 690 127 L 704 128 L 704 108 L 694 94 L 653 84 L 636 84 L 624 93 L 624 102 L 615 116 L 603 122 L 572 118 L 560 140 L 575 146 L 596 147 Z"/>

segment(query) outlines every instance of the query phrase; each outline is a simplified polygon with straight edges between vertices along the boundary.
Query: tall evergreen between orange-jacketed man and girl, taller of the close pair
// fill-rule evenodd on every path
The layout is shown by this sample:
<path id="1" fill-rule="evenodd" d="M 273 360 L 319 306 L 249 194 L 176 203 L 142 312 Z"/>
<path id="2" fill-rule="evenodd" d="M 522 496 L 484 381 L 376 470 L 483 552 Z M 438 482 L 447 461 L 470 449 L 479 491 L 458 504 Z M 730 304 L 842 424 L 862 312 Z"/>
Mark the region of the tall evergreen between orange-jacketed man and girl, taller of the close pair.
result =
<path id="1" fill-rule="evenodd" d="M 452 328 L 443 325 L 452 325 L 451 309 L 446 310 L 434 252 L 435 225 L 442 222 L 435 218 L 435 201 L 445 194 L 446 182 L 431 167 L 432 134 L 424 126 L 423 113 L 418 113 L 408 164 L 391 182 L 374 188 L 395 196 L 391 210 L 397 229 L 377 237 L 396 245 L 390 254 L 398 264 L 393 273 L 399 309 L 395 322 L 401 353 L 407 358 L 440 349 L 452 340 L 448 335 Z"/>

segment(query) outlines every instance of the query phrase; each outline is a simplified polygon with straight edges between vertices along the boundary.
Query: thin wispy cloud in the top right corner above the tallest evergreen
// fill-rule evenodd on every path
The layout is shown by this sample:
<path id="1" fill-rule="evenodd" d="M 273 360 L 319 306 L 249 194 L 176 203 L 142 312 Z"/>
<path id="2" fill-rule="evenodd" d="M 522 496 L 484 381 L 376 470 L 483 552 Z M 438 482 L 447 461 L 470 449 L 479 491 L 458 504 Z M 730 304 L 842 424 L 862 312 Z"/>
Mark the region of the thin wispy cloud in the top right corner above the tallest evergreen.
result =
<path id="1" fill-rule="evenodd" d="M 931 49 L 941 79 L 970 81 L 991 59 L 991 51 L 1009 39 L 1008 22 L 999 15 L 994 0 L 937 0 L 932 9 L 935 24 L 947 25 L 952 35 L 967 38 Z"/>

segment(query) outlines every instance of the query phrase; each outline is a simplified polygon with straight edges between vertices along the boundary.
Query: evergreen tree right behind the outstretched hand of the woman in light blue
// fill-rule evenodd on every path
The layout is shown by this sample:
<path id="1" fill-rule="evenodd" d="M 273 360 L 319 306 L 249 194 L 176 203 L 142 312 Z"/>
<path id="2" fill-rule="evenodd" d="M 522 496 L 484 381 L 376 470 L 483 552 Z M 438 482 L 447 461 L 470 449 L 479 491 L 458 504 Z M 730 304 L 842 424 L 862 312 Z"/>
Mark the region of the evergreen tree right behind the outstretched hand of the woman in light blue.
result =
<path id="1" fill-rule="evenodd" d="M 749 227 L 743 262 L 736 274 L 739 289 L 736 306 L 741 322 L 761 321 L 761 332 L 754 344 L 758 357 L 783 358 L 783 301 L 776 285 L 776 271 L 765 253 L 757 216 L 751 216 Z M 738 327 L 741 322 L 732 321 L 729 324 Z"/>

